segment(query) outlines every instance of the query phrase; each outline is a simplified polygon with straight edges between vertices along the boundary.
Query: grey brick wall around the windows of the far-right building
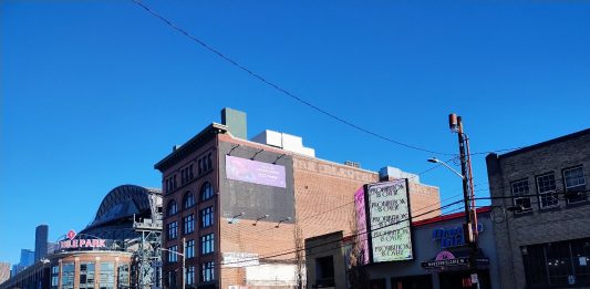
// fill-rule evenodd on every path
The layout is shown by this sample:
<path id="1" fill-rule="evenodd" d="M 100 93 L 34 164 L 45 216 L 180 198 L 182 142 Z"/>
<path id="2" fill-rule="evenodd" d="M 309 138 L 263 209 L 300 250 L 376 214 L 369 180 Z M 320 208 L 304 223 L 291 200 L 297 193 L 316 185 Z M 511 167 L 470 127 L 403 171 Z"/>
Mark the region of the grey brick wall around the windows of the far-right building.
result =
<path id="1" fill-rule="evenodd" d="M 511 197 L 510 183 L 528 179 L 531 194 L 536 194 L 535 177 L 555 173 L 559 206 L 540 209 L 537 197 L 531 197 L 532 211 L 507 214 L 504 223 L 494 227 L 501 267 L 501 288 L 525 288 L 525 268 L 521 246 L 590 237 L 590 205 L 567 205 L 563 198 L 562 169 L 582 165 L 588 189 L 590 173 L 590 130 L 573 136 L 550 141 L 506 155 L 486 157 L 489 190 L 493 197 Z M 511 198 L 493 199 L 495 206 L 509 207 Z"/>

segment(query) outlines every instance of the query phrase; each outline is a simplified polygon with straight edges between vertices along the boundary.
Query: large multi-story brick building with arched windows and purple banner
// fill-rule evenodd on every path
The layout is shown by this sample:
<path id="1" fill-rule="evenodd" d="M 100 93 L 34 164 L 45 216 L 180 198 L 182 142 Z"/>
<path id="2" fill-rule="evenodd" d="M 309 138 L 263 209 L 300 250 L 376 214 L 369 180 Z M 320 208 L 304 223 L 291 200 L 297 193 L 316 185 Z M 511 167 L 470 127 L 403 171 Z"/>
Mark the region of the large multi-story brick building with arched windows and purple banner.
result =
<path id="1" fill-rule="evenodd" d="M 225 109 L 221 118 L 155 165 L 163 174 L 164 286 L 290 288 L 304 279 L 296 248 L 312 236 L 350 233 L 354 193 L 380 176 L 317 158 L 297 136 L 266 131 L 247 141 L 245 113 Z M 412 206 L 439 206 L 438 189 L 413 179 Z"/>

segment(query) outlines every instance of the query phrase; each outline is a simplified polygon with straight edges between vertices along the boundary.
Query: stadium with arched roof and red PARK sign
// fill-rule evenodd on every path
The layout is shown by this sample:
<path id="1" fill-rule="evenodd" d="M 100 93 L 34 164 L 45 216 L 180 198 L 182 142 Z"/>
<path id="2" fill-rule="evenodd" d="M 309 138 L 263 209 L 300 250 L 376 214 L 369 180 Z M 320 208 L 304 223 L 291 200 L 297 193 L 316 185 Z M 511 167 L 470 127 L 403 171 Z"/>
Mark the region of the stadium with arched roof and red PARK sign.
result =
<path id="1" fill-rule="evenodd" d="M 65 233 L 54 250 L 0 289 L 161 287 L 161 233 L 159 189 L 115 187 L 86 228 Z"/>

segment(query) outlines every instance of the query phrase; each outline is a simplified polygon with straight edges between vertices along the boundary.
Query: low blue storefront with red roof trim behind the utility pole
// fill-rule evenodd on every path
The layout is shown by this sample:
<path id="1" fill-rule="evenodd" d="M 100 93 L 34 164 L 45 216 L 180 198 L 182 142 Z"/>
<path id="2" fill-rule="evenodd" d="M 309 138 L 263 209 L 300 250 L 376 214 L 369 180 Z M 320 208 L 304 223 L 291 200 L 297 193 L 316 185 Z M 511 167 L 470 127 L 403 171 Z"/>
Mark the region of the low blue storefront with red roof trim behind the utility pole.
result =
<path id="1" fill-rule="evenodd" d="M 365 266 L 374 289 L 499 288 L 489 208 L 478 209 L 478 252 L 472 258 L 463 239 L 464 214 L 413 223 L 414 259 Z M 475 259 L 477 276 L 469 269 Z"/>

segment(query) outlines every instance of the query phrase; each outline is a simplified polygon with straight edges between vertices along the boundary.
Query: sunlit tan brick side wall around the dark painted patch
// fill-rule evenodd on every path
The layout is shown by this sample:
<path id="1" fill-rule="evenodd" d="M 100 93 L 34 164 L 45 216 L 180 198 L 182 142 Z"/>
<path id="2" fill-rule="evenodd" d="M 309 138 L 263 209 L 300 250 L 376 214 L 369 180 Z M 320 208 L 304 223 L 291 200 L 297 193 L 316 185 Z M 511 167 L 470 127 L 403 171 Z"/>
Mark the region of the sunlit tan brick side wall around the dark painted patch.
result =
<path id="1" fill-rule="evenodd" d="M 242 143 L 244 144 L 244 143 Z M 353 221 L 354 193 L 368 183 L 375 183 L 374 172 L 340 165 L 318 158 L 293 155 L 293 178 L 296 194 L 296 219 L 302 230 L 302 240 L 333 231 L 351 234 Z M 410 185 L 411 206 L 422 214 L 439 208 L 438 188 L 421 184 Z M 416 219 L 439 215 L 439 209 Z M 292 261 L 294 238 L 292 224 L 240 220 L 228 224 L 221 220 L 221 250 L 224 252 L 256 252 L 259 257 L 273 257 L 273 260 Z M 287 255 L 281 255 L 289 252 Z M 230 285 L 246 285 L 245 268 L 221 269 L 221 288 Z M 253 288 L 253 287 L 250 287 Z M 263 287 L 256 287 L 263 288 Z M 275 287 L 276 288 L 276 287 Z"/>

